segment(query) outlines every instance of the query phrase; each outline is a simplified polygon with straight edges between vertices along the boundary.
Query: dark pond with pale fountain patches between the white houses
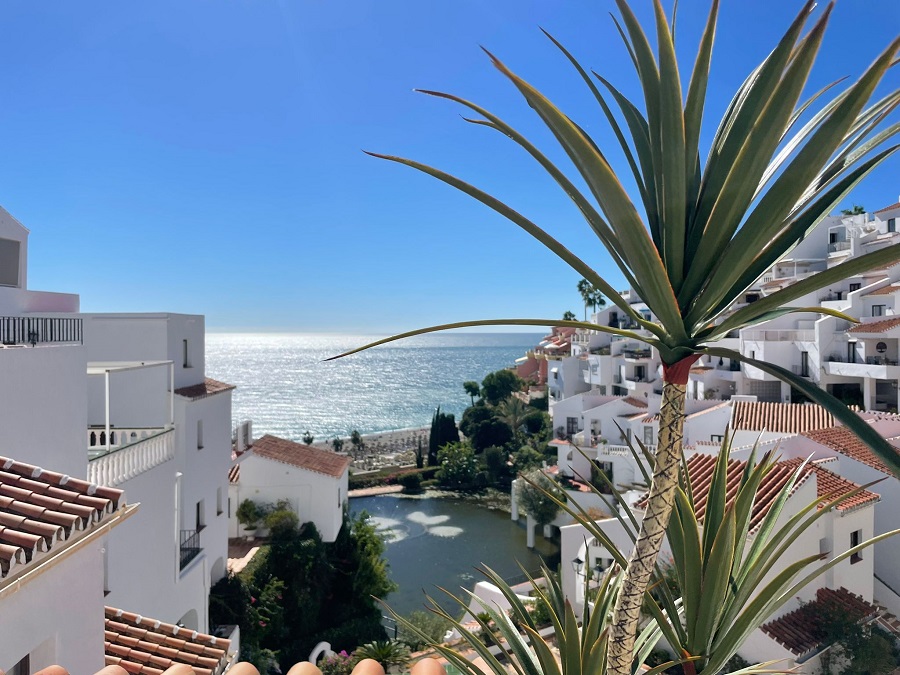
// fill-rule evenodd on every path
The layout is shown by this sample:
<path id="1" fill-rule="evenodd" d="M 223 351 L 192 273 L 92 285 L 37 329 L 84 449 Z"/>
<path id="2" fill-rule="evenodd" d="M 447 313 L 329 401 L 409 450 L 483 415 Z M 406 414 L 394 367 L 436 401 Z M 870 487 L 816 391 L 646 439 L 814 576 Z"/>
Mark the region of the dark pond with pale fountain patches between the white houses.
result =
<path id="1" fill-rule="evenodd" d="M 557 550 L 540 534 L 535 550 L 528 549 L 525 528 L 510 520 L 509 513 L 459 499 L 359 497 L 350 500 L 350 511 L 368 512 L 385 536 L 385 557 L 399 586 L 386 601 L 401 615 L 423 609 L 424 592 L 450 609 L 452 601 L 444 602 L 437 587 L 457 595 L 460 587 L 471 590 L 485 578 L 476 569 L 482 563 L 508 579 L 522 574 L 519 563 L 537 571 L 542 556 L 549 560 Z"/>

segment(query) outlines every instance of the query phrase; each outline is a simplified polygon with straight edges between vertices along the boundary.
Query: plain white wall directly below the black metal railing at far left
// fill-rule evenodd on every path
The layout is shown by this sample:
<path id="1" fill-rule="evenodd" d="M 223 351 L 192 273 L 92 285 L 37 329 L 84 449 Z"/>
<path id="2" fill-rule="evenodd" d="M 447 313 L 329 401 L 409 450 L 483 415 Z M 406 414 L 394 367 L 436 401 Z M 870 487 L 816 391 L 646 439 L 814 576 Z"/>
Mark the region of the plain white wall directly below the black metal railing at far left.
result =
<path id="1" fill-rule="evenodd" d="M 87 475 L 85 350 L 0 349 L 0 455 Z"/>

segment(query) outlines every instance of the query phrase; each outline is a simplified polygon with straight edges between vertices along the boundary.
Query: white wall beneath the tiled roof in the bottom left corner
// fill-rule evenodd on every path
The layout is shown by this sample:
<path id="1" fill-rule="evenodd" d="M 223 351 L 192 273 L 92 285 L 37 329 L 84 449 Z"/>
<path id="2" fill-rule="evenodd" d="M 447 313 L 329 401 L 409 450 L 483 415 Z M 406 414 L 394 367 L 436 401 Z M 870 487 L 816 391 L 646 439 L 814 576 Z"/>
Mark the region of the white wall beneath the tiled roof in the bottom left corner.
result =
<path id="1" fill-rule="evenodd" d="M 101 548 L 98 537 L 14 592 L 0 592 L 0 669 L 26 654 L 31 672 L 58 663 L 72 673 L 103 668 Z"/>

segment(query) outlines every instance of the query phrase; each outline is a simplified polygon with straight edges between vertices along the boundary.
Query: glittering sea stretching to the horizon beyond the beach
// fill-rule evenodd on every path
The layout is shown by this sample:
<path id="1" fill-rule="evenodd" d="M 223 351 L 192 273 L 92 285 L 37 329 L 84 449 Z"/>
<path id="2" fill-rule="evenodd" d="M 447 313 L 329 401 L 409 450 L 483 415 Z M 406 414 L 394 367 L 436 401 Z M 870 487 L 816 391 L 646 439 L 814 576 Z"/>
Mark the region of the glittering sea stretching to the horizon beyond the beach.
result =
<path id="1" fill-rule="evenodd" d="M 438 406 L 459 420 L 470 404 L 463 382 L 512 365 L 542 334 L 436 333 L 325 361 L 382 337 L 210 332 L 206 373 L 237 386 L 234 426 L 324 441 L 427 426 Z"/>

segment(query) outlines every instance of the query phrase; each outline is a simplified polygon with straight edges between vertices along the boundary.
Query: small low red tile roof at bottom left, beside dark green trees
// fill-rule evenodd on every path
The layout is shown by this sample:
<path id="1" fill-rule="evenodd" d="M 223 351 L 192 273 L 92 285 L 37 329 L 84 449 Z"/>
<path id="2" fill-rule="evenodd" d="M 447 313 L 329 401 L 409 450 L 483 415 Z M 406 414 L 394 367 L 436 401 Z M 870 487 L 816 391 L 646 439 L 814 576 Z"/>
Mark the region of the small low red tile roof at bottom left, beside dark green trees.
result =
<path id="1" fill-rule="evenodd" d="M 197 675 L 218 675 L 232 656 L 230 640 L 114 607 L 107 607 L 105 615 L 106 665 L 121 666 L 129 673 L 161 674 L 184 663 Z"/>

